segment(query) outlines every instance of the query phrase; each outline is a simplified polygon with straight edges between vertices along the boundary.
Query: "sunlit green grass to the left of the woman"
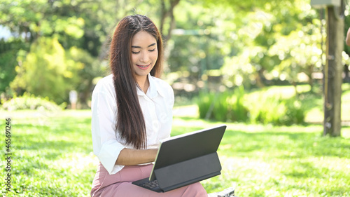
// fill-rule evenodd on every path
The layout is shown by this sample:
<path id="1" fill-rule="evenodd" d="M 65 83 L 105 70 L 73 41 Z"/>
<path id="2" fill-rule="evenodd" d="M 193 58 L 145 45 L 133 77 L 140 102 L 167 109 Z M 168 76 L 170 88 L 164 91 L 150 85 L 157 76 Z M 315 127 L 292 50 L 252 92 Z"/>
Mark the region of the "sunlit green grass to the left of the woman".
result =
<path id="1" fill-rule="evenodd" d="M 97 158 L 92 154 L 90 112 L 81 112 L 1 111 L 12 118 L 13 191 L 8 196 L 87 196 Z M 3 155 L 5 149 L 1 151 Z M 3 189 L 1 185 L 1 193 Z"/>

